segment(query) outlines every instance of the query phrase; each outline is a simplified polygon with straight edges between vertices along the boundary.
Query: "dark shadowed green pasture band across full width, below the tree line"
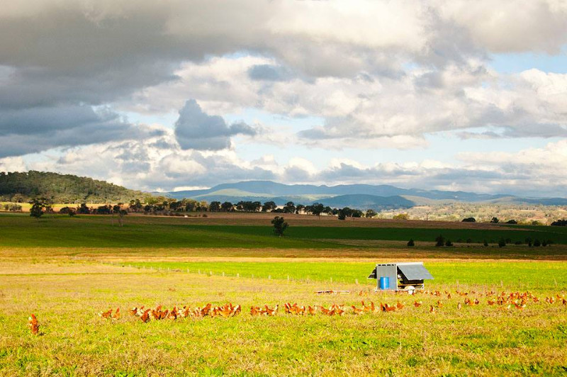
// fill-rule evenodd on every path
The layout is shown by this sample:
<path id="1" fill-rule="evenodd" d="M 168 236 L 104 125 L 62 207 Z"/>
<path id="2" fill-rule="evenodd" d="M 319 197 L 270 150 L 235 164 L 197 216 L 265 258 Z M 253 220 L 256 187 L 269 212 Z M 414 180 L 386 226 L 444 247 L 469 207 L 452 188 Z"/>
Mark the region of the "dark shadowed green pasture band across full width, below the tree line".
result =
<path id="1" fill-rule="evenodd" d="M 453 242 L 494 244 L 500 239 L 512 243 L 551 240 L 567 244 L 564 227 L 501 227 L 486 229 L 430 229 L 412 227 L 317 227 L 292 226 L 285 237 L 275 237 L 266 226 L 189 225 L 162 218 L 51 215 L 39 220 L 28 215 L 0 215 L 0 246 L 13 247 L 238 247 L 238 248 L 340 248 L 340 240 L 434 241 L 442 235 Z M 181 219 L 179 219 L 181 220 Z M 114 225 L 112 222 L 114 221 Z M 338 221 L 338 220 L 337 220 Z"/>

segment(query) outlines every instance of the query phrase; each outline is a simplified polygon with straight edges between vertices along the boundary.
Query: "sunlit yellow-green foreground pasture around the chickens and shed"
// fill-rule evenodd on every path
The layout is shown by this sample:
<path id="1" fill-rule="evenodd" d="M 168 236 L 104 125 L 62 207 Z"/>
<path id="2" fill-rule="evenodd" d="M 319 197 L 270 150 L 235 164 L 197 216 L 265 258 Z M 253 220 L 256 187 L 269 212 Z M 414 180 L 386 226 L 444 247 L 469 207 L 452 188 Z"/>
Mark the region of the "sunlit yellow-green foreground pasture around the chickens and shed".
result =
<path id="1" fill-rule="evenodd" d="M 451 299 L 392 293 L 317 295 L 315 290 L 331 285 L 274 278 L 277 271 L 286 269 L 298 276 L 315 277 L 320 271 L 323 278 L 325 272 L 335 270 L 345 276 L 349 271 L 366 276 L 371 269 L 367 264 L 328 264 L 327 271 L 322 264 L 267 265 L 275 265 L 272 279 L 118 266 L 89 274 L 87 265 L 79 263 L 47 263 L 44 274 L 0 275 L 0 375 L 563 376 L 567 372 L 567 307 L 544 301 L 561 293 L 549 279 L 541 282 L 551 288 L 541 288 L 540 302 L 530 302 L 524 310 L 500 310 L 486 305 L 485 297 L 480 297 L 480 305 L 459 310 L 457 303 L 463 298 L 456 294 Z M 214 266 L 228 270 L 230 264 Z M 235 266 L 242 268 L 242 264 Z M 250 266 L 251 271 L 266 268 L 266 264 Z M 566 270 L 565 264 L 546 262 L 430 263 L 427 267 L 439 289 L 454 293 L 455 275 L 479 282 L 462 287 L 471 295 L 472 290 L 500 287 L 504 273 L 515 278 L 556 274 L 564 282 Z M 494 286 L 483 283 L 483 275 Z M 354 283 L 338 286 L 353 291 L 359 287 Z M 532 286 L 505 280 L 507 291 L 521 288 L 532 291 Z M 293 316 L 283 310 L 275 317 L 249 315 L 251 305 L 339 303 L 349 310 L 350 305 L 360 306 L 361 300 L 391 304 L 399 300 L 405 308 L 368 315 L 347 311 L 344 317 Z M 415 308 L 415 300 L 423 305 Z M 438 300 L 444 307 L 430 313 L 430 305 Z M 208 302 L 232 302 L 243 310 L 228 319 L 148 323 L 125 313 L 140 305 L 195 307 Z M 104 320 L 97 314 L 117 307 L 123 313 L 119 320 Z M 38 315 L 40 336 L 33 336 L 26 327 L 30 313 Z"/>

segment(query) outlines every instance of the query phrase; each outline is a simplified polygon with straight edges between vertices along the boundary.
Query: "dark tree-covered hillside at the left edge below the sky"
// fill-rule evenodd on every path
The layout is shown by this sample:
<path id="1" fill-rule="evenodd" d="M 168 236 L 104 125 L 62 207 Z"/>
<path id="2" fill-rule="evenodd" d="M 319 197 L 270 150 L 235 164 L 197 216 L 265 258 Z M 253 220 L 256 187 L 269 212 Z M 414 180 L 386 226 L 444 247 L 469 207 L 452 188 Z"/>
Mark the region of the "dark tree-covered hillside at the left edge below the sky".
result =
<path id="1" fill-rule="evenodd" d="M 0 172 L 0 201 L 23 203 L 46 198 L 52 203 L 125 203 L 147 196 L 150 194 L 83 176 L 43 171 Z"/>

